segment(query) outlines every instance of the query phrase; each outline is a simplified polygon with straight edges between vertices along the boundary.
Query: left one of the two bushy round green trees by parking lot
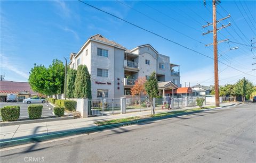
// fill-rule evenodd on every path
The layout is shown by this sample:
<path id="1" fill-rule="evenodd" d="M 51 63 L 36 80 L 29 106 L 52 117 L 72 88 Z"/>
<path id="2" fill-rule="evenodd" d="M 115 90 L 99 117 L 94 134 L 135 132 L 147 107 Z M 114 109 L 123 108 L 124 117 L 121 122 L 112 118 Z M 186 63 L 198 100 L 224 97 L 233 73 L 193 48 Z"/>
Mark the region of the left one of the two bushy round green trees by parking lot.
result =
<path id="1" fill-rule="evenodd" d="M 29 72 L 28 82 L 30 87 L 38 93 L 42 93 L 43 95 L 50 95 L 45 89 L 45 81 L 47 80 L 49 73 L 47 68 L 43 65 L 34 64 L 34 68 L 31 68 Z"/>

